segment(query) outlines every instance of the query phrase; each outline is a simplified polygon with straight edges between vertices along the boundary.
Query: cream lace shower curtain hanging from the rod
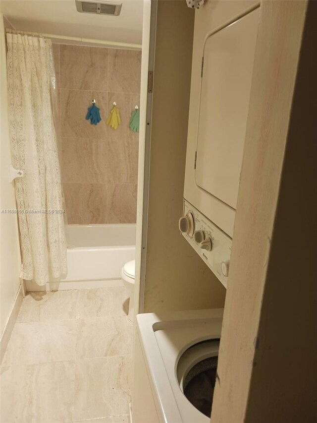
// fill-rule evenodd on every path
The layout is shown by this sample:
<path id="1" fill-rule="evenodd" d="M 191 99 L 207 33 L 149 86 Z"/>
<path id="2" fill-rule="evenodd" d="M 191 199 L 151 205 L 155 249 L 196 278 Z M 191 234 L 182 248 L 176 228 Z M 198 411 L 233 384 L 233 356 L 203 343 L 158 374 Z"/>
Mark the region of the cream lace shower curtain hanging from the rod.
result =
<path id="1" fill-rule="evenodd" d="M 15 179 L 21 278 L 45 285 L 67 272 L 52 41 L 6 36 L 12 165 L 24 171 L 24 177 Z"/>

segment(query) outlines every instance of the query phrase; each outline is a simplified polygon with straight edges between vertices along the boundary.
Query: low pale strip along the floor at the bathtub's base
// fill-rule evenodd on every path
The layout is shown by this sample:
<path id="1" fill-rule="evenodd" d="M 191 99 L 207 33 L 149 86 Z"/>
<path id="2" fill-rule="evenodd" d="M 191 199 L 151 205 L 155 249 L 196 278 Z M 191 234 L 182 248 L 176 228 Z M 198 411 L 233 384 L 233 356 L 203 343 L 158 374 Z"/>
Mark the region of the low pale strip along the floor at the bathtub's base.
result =
<path id="1" fill-rule="evenodd" d="M 39 291 L 68 291 L 74 289 L 94 289 L 94 288 L 110 288 L 123 287 L 121 279 L 104 279 L 101 281 L 66 281 L 66 282 L 49 282 L 44 286 L 39 286 L 35 282 L 26 281 L 27 292 Z"/>

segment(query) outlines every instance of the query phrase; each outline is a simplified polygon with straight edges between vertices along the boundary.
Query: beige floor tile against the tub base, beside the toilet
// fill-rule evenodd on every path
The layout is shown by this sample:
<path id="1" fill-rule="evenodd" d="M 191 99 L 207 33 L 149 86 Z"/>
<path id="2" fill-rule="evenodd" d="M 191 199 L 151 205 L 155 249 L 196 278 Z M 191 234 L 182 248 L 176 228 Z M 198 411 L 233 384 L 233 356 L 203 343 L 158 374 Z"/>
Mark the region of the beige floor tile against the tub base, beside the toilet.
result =
<path id="1" fill-rule="evenodd" d="M 96 288 L 78 292 L 77 316 L 94 318 L 126 315 L 129 291 L 125 287 Z"/>

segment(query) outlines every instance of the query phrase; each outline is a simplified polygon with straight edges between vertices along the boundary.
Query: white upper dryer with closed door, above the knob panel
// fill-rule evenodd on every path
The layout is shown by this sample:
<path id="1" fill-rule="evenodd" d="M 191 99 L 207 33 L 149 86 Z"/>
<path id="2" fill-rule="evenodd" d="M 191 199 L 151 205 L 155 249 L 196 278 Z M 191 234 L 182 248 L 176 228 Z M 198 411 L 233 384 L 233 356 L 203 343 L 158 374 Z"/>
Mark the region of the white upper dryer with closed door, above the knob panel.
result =
<path id="1" fill-rule="evenodd" d="M 259 2 L 235 3 L 211 1 L 195 12 L 184 184 L 184 216 L 192 206 L 230 239 L 260 17 Z"/>

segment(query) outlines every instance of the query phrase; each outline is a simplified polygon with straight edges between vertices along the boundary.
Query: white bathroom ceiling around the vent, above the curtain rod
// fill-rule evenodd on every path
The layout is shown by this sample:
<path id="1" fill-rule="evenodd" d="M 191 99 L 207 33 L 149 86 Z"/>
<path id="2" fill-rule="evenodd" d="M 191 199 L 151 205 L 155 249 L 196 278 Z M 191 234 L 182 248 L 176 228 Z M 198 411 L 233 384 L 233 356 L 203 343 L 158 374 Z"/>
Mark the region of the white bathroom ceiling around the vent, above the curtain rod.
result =
<path id="1" fill-rule="evenodd" d="M 115 1 L 122 2 L 119 16 L 79 13 L 75 0 L 0 0 L 0 6 L 20 31 L 141 44 L 143 0 Z"/>

